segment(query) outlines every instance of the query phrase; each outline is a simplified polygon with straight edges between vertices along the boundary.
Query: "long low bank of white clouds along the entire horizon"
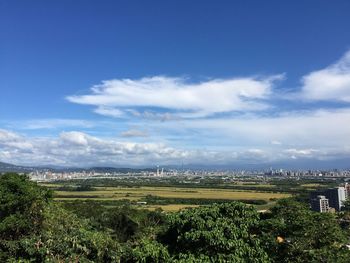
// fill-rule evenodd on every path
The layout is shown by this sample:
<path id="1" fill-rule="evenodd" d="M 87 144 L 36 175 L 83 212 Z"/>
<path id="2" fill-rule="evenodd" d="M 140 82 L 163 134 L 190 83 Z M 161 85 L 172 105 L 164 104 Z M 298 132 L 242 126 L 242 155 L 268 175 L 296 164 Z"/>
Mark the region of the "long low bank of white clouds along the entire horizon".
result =
<path id="1" fill-rule="evenodd" d="M 243 127 L 243 130 L 245 128 Z M 254 132 L 246 134 L 246 136 L 258 135 Z M 229 139 L 226 137 L 224 141 L 227 142 Z M 309 148 L 301 145 L 287 148 L 269 147 L 268 145 L 269 143 L 259 148 L 227 145 L 223 149 L 215 150 L 212 148 L 196 149 L 196 147 L 186 149 L 180 146 L 175 148 L 164 143 L 121 142 L 111 138 L 98 138 L 78 131 L 62 132 L 57 137 L 28 137 L 0 130 L 0 161 L 23 165 L 51 164 L 83 167 L 95 165 L 153 166 L 182 162 L 205 165 L 242 165 L 290 159 L 331 160 L 350 156 L 350 145 L 346 143 L 343 147 L 337 144 L 320 144 Z"/>

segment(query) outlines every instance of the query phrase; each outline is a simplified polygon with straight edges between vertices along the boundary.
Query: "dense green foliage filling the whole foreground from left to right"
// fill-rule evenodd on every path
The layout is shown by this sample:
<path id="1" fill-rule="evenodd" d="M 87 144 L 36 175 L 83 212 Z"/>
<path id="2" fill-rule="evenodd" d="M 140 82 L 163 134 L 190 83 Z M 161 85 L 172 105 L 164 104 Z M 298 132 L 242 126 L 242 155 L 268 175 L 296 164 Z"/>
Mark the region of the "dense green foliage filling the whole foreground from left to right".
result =
<path id="1" fill-rule="evenodd" d="M 297 199 L 263 214 L 240 202 L 166 214 L 58 203 L 26 176 L 0 175 L 0 262 L 349 262 L 349 231 L 350 212 Z"/>

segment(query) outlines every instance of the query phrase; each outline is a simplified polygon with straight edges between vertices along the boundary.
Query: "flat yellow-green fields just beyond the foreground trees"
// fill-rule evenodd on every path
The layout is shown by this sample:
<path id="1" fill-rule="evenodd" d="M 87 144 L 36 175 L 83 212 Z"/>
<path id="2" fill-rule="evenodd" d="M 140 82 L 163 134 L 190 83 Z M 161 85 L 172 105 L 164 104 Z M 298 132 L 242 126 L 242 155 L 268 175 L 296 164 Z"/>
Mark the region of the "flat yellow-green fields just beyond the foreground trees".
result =
<path id="1" fill-rule="evenodd" d="M 288 193 L 259 192 L 251 190 L 195 188 L 195 187 L 108 187 L 95 186 L 88 191 L 67 191 L 61 185 L 46 185 L 54 189 L 56 201 L 99 201 L 113 206 L 114 203 L 128 202 L 135 207 L 164 211 L 177 211 L 182 208 L 194 207 L 199 204 L 209 204 L 224 201 L 243 201 L 267 205 L 273 200 L 291 196 Z M 56 186 L 53 187 L 53 186 Z M 57 187 L 60 186 L 60 187 Z"/>

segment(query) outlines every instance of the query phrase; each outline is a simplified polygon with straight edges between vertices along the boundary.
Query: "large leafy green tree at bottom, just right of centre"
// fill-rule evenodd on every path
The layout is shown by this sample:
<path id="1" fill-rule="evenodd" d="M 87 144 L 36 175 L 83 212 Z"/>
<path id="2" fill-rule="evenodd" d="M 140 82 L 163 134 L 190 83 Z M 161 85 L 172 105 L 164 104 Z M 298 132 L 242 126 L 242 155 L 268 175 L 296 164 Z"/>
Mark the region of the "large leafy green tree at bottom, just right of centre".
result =
<path id="1" fill-rule="evenodd" d="M 180 262 L 268 262 L 253 231 L 258 222 L 254 207 L 214 204 L 171 214 L 160 240 Z"/>

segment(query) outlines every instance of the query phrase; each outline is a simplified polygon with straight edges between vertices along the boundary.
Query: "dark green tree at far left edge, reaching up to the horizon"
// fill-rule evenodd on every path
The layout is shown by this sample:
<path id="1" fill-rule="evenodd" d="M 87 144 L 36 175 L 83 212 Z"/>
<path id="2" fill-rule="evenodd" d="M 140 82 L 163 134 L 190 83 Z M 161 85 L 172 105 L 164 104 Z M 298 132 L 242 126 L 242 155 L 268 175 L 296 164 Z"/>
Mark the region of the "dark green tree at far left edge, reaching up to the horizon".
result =
<path id="1" fill-rule="evenodd" d="M 19 252 L 18 241 L 41 231 L 51 192 L 14 173 L 0 175 L 0 259 Z"/>

